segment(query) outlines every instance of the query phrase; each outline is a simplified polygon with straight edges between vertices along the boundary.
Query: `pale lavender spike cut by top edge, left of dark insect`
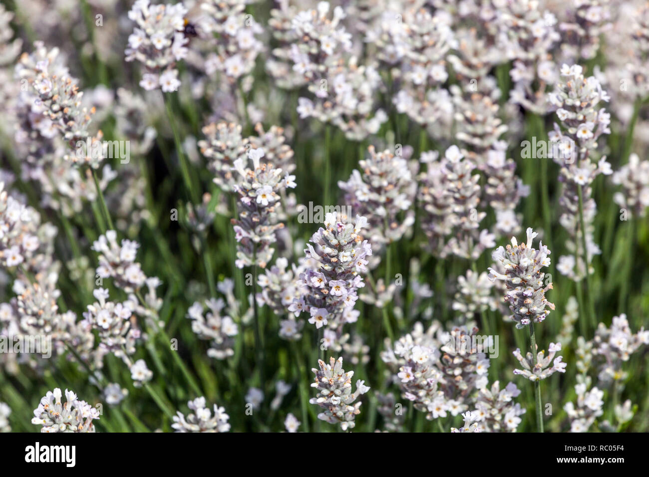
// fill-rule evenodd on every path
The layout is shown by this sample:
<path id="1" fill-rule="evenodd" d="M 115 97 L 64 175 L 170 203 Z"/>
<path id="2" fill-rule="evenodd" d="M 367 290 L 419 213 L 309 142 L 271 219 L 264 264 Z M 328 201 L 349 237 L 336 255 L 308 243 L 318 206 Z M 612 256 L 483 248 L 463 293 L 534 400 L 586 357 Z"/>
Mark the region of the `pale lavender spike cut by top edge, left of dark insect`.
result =
<path id="1" fill-rule="evenodd" d="M 136 0 L 130 9 L 129 19 L 137 26 L 129 36 L 125 55 L 127 61 L 137 60 L 146 67 L 140 81 L 145 90 L 178 90 L 176 62 L 188 54 L 189 40 L 183 33 L 186 14 L 182 2 L 151 5 L 149 0 Z"/>

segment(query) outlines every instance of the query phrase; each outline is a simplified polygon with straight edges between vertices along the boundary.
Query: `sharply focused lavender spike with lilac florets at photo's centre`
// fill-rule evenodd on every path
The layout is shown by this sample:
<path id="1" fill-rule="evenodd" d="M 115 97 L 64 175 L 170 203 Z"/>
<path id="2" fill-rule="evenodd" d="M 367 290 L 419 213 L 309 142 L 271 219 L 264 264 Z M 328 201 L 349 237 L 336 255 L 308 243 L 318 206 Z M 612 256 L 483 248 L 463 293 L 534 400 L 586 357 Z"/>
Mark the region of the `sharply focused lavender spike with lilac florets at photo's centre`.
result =
<path id="1" fill-rule="evenodd" d="M 372 246 L 360 235 L 367 226 L 365 217 L 356 216 L 352 225 L 347 216 L 330 212 L 304 250 L 313 265 L 300 273 L 297 286 L 301 288 L 289 310 L 299 316 L 300 312 L 311 315 L 309 323 L 316 328 L 328 324 L 337 328 L 343 323 L 356 321 L 352 313 L 358 299 L 356 290 L 365 286 L 359 275 L 367 270 L 367 256 Z"/>

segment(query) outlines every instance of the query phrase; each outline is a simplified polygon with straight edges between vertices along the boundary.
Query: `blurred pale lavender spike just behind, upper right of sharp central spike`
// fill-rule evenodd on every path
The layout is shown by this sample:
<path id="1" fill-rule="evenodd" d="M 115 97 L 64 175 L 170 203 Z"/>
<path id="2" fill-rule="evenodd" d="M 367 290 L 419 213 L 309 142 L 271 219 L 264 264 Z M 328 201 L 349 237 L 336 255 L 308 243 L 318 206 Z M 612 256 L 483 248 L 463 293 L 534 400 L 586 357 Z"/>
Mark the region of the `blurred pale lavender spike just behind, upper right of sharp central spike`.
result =
<path id="1" fill-rule="evenodd" d="M 387 150 L 377 153 L 368 148 L 369 156 L 358 162 L 347 182 L 339 181 L 345 191 L 345 204 L 354 213 L 367 217 L 367 232 L 374 252 L 401 239 L 415 222 L 411 205 L 415 200 L 417 162 L 408 161 Z"/>

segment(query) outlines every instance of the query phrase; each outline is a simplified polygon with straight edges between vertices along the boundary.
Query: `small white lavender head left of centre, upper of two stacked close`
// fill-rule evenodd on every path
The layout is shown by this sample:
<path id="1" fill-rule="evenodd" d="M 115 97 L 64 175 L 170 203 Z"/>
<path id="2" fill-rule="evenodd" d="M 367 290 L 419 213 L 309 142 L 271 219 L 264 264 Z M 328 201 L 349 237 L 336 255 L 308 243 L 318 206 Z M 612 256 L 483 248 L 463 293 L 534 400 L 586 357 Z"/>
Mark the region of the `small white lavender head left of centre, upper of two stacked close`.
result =
<path id="1" fill-rule="evenodd" d="M 127 293 L 139 290 L 147 280 L 140 263 L 135 261 L 139 247 L 139 243 L 128 239 L 123 239 L 119 245 L 117 232 L 108 230 L 92 244 L 93 251 L 99 253 L 97 275 L 112 278 L 115 285 Z"/>

